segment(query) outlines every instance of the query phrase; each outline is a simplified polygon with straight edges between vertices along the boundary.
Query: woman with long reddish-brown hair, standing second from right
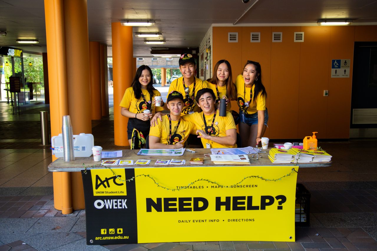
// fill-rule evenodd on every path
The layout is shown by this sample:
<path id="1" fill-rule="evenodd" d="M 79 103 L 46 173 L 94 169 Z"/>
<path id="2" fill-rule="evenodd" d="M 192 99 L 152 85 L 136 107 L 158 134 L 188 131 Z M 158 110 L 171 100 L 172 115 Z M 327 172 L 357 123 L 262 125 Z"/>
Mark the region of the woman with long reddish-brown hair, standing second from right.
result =
<path id="1" fill-rule="evenodd" d="M 231 104 L 229 100 L 236 100 L 236 86 L 232 81 L 232 69 L 230 63 L 225 60 L 219 60 L 213 69 L 212 78 L 207 79 L 208 88 L 212 89 L 216 96 L 216 105 L 219 104 L 221 98 L 227 99 L 227 111 L 230 112 Z"/>

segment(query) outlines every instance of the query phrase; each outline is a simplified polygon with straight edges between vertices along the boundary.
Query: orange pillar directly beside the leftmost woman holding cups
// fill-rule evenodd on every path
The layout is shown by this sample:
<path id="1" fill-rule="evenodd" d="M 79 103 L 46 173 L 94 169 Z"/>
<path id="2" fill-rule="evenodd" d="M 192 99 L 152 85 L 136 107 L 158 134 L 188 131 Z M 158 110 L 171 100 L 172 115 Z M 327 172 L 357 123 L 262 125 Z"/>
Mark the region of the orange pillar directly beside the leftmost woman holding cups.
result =
<path id="1" fill-rule="evenodd" d="M 114 91 L 114 143 L 129 145 L 127 140 L 128 118 L 120 114 L 120 101 L 133 80 L 132 26 L 111 24 L 113 49 L 113 91 Z"/>

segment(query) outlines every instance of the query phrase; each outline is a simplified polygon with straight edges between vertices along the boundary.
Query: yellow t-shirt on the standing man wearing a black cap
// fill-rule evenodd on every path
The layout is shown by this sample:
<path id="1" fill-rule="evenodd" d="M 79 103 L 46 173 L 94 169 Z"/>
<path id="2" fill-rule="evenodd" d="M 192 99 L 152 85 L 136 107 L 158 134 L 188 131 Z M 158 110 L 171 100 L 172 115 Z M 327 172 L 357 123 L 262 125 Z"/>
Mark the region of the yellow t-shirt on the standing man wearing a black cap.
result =
<path id="1" fill-rule="evenodd" d="M 196 93 L 198 93 L 198 90 L 201 90 L 203 88 L 207 88 L 207 81 L 203 81 L 199 78 L 195 78 L 195 93 L 194 93 L 194 99 L 192 101 L 192 103 L 190 104 L 189 100 L 186 98 L 186 93 L 185 93 L 185 89 L 183 87 L 183 77 L 180 77 L 180 78 L 177 78 L 176 80 L 174 80 L 171 84 L 170 84 L 170 87 L 169 87 L 169 92 L 168 92 L 168 95 L 170 92 L 172 92 L 173 90 L 176 90 L 180 93 L 182 93 L 183 95 L 183 103 L 185 105 L 185 107 L 182 109 L 182 112 L 181 112 L 181 115 L 186 115 L 186 114 L 189 114 L 189 112 L 193 111 L 193 112 L 199 112 L 200 111 L 200 108 L 199 106 L 196 104 Z M 187 86 L 187 84 L 185 84 L 185 87 L 189 87 L 189 98 L 191 99 L 192 97 L 192 92 L 193 92 L 193 89 L 194 89 L 194 83 L 190 84 L 190 86 Z"/>

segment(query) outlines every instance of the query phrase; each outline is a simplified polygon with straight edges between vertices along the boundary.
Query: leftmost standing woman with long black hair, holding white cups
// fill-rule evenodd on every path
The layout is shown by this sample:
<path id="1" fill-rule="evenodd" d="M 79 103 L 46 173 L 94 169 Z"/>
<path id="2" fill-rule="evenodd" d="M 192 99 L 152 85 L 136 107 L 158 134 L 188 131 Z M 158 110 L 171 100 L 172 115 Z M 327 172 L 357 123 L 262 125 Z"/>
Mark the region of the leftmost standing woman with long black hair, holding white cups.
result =
<path id="1" fill-rule="evenodd" d="M 163 101 L 160 107 L 155 106 L 154 97 L 161 96 L 161 93 L 153 87 L 153 74 L 149 66 L 142 65 L 136 70 L 131 87 L 124 92 L 120 102 L 121 114 L 128 119 L 127 138 L 131 145 L 132 130 L 135 128 L 142 132 L 147 138 L 150 130 L 150 121 L 152 113 L 162 111 L 164 108 Z M 149 110 L 150 113 L 144 113 Z"/>

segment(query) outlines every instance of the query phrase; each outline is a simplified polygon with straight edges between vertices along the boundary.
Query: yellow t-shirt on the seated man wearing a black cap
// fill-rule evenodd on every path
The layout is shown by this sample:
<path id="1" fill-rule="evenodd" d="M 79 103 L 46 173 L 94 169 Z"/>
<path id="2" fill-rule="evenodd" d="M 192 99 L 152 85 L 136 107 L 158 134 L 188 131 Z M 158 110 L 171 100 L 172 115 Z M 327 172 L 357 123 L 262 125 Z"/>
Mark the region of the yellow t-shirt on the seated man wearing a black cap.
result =
<path id="1" fill-rule="evenodd" d="M 177 129 L 178 121 L 172 121 L 172 138 L 173 145 L 177 142 L 183 140 L 183 143 L 187 140 L 190 133 L 196 132 L 196 127 L 193 123 L 181 119 L 179 127 Z M 160 138 L 159 143 L 169 145 L 169 118 L 167 115 L 162 116 L 162 122 L 158 121 L 156 126 L 150 127 L 150 136 L 155 136 Z"/>

